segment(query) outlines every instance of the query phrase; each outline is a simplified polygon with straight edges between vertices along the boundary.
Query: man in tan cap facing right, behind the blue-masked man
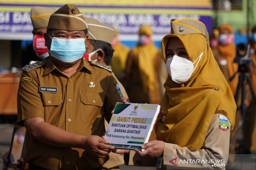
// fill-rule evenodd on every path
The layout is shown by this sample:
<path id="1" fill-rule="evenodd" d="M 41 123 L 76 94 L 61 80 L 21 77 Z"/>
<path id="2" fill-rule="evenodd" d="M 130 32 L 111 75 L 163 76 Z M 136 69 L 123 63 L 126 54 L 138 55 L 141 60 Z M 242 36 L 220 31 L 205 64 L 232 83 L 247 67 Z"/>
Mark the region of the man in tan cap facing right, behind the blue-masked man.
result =
<path id="1" fill-rule="evenodd" d="M 88 40 L 86 41 L 86 53 L 84 58 L 87 60 L 95 61 L 99 65 L 103 65 L 111 71 L 112 75 L 116 78 L 111 69 L 111 59 L 114 49 L 111 47 L 111 42 L 115 35 L 115 29 L 112 26 L 101 23 L 97 19 L 84 17 L 88 25 Z M 116 87 L 121 90 L 120 96 L 128 99 L 127 93 L 123 85 L 116 78 Z M 105 121 L 106 129 L 108 122 Z M 103 169 L 119 169 L 119 165 L 124 164 L 124 155 L 110 152 L 109 159 L 103 165 Z"/>

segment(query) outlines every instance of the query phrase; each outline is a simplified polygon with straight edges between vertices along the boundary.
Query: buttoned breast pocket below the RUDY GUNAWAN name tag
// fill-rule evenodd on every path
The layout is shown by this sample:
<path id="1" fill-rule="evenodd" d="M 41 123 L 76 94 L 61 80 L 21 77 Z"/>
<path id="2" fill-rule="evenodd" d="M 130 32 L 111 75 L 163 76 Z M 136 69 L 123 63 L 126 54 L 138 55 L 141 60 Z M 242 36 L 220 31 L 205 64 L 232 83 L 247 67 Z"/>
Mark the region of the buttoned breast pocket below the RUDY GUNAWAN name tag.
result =
<path id="1" fill-rule="evenodd" d="M 44 104 L 44 121 L 50 124 L 56 123 L 60 119 L 62 96 L 58 93 L 42 94 Z"/>

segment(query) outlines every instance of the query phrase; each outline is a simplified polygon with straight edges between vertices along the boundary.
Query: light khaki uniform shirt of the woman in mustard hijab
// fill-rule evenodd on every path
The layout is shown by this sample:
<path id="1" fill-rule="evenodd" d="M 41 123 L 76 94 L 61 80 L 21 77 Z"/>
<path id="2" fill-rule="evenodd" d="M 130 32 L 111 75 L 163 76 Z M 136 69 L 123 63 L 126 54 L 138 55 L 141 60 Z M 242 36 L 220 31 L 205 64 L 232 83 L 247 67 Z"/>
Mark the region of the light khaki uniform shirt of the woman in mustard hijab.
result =
<path id="1" fill-rule="evenodd" d="M 182 158 L 180 159 L 204 159 L 205 155 L 206 159 L 224 159 L 226 160 L 225 164 L 228 160 L 228 151 L 229 151 L 229 137 L 230 137 L 230 128 L 231 124 L 228 120 L 228 130 L 222 130 L 219 128 L 219 113 L 216 113 L 212 117 L 212 121 L 207 130 L 206 137 L 204 140 L 204 144 L 201 149 L 193 150 L 189 148 L 181 148 L 177 144 L 164 144 L 164 156 L 163 158 L 163 169 L 167 169 L 168 166 L 171 166 L 172 169 L 210 169 L 211 167 L 208 164 L 200 164 L 200 163 L 188 163 L 182 164 L 179 162 L 178 166 L 169 163 L 168 155 L 172 154 L 173 158 L 179 158 L 179 154 L 181 154 Z M 218 158 L 216 158 L 213 154 L 220 154 Z M 192 156 L 191 156 L 192 155 Z M 148 155 L 147 155 L 148 156 Z M 149 157 L 140 157 L 135 151 L 130 151 L 130 155 L 125 154 L 124 161 L 126 165 L 134 165 L 134 166 L 156 166 L 156 158 Z M 146 160 L 146 162 L 144 161 Z M 177 159 L 178 161 L 178 159 Z M 173 161 L 174 163 L 175 161 Z M 212 169 L 216 167 L 212 167 Z M 220 167 L 222 169 L 223 167 Z M 224 167 L 225 169 L 225 167 Z"/>

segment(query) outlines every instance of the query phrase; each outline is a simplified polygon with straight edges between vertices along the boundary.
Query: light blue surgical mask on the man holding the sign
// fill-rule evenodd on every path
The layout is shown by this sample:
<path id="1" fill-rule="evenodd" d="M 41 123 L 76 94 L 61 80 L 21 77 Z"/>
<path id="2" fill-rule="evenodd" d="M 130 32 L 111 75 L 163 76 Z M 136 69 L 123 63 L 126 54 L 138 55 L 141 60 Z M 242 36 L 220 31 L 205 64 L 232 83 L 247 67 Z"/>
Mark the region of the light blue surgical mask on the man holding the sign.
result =
<path id="1" fill-rule="evenodd" d="M 63 39 L 48 36 L 52 39 L 51 49 L 48 50 L 52 57 L 66 63 L 72 63 L 83 57 L 85 38 Z"/>

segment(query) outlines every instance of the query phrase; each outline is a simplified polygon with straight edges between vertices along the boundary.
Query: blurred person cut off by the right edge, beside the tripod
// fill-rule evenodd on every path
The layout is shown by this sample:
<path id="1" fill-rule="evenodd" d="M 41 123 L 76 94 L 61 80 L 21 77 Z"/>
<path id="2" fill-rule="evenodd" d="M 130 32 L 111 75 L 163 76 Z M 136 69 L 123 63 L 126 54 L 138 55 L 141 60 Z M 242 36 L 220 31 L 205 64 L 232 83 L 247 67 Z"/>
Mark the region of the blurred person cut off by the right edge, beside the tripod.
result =
<path id="1" fill-rule="evenodd" d="M 249 40 L 250 57 L 250 78 L 254 94 L 256 94 L 256 25 L 252 28 L 252 38 Z M 244 120 L 244 145 L 245 153 L 256 153 L 256 101 L 252 97 L 250 105 L 246 110 Z"/>

